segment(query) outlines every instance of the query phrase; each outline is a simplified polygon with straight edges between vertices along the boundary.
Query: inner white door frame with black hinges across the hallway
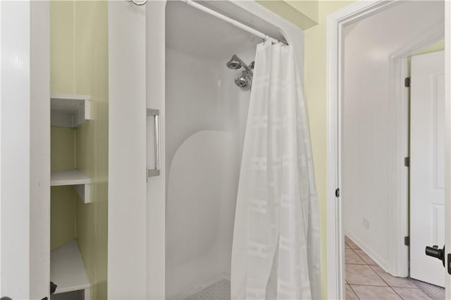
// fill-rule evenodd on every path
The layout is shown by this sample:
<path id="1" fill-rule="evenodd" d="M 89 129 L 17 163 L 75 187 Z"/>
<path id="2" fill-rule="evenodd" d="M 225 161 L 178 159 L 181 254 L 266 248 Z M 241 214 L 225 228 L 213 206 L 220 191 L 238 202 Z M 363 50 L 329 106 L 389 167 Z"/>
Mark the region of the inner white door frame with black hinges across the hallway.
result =
<path id="1" fill-rule="evenodd" d="M 390 209 L 389 223 L 393 228 L 388 234 L 390 256 L 388 273 L 393 276 L 409 276 L 409 247 L 404 245 L 404 237 L 409 237 L 409 168 L 402 165 L 404 157 L 409 156 L 409 89 L 404 79 L 409 76 L 409 56 L 417 54 L 427 46 L 445 37 L 443 22 L 416 35 L 407 44 L 390 54 L 390 98 L 396 105 L 389 113 L 390 127 L 396 129 L 390 152 Z"/>

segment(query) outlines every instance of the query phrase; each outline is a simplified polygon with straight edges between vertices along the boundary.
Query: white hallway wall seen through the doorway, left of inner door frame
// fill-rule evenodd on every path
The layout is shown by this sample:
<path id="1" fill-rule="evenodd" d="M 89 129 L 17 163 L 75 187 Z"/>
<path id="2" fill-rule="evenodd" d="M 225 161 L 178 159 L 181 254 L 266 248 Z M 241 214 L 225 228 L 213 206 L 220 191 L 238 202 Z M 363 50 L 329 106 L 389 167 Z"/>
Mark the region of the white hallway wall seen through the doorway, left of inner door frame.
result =
<path id="1" fill-rule="evenodd" d="M 440 1 L 407 1 L 349 25 L 345 35 L 342 199 L 345 233 L 382 268 L 389 261 L 390 55 L 431 27 Z M 400 164 L 403 161 L 399 161 Z"/>

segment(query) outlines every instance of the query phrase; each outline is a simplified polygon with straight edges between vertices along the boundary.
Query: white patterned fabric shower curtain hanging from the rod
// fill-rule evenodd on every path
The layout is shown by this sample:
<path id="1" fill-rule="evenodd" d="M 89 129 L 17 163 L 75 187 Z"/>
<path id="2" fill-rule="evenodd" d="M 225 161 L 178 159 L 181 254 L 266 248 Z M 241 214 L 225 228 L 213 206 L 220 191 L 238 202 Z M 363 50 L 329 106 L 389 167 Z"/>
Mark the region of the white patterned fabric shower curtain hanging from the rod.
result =
<path id="1" fill-rule="evenodd" d="M 257 46 L 235 211 L 231 299 L 319 299 L 319 215 L 292 46 Z"/>

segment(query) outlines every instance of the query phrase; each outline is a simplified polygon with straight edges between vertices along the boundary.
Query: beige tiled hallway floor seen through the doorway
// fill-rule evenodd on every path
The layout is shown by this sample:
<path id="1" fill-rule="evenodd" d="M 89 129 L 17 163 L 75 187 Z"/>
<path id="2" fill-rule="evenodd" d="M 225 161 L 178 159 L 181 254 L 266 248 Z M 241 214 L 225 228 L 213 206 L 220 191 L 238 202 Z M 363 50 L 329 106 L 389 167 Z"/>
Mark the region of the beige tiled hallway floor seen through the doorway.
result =
<path id="1" fill-rule="evenodd" d="M 431 298 L 413 280 L 386 273 L 349 237 L 345 237 L 345 262 L 346 299 L 440 299 L 442 294 L 445 299 L 443 288 L 430 285 L 439 291 Z"/>

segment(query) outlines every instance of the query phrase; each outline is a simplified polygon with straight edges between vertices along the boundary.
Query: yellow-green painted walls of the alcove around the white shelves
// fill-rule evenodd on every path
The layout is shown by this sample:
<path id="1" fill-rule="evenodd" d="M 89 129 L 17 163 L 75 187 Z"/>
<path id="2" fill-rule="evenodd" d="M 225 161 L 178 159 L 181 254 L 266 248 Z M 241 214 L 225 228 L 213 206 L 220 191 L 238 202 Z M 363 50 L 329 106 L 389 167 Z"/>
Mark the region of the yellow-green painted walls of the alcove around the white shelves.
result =
<path id="1" fill-rule="evenodd" d="M 55 141 L 67 148 L 66 151 L 52 149 L 52 163 L 72 161 L 72 166 L 66 165 L 68 168 L 75 166 L 89 176 L 92 203 L 84 204 L 72 187 L 52 188 L 51 244 L 77 239 L 91 282 L 91 299 L 107 297 L 107 13 L 107 1 L 51 1 L 50 4 L 51 92 L 91 95 L 92 118 L 72 132 L 52 127 L 52 146 Z M 56 203 L 56 200 L 60 201 Z"/>

